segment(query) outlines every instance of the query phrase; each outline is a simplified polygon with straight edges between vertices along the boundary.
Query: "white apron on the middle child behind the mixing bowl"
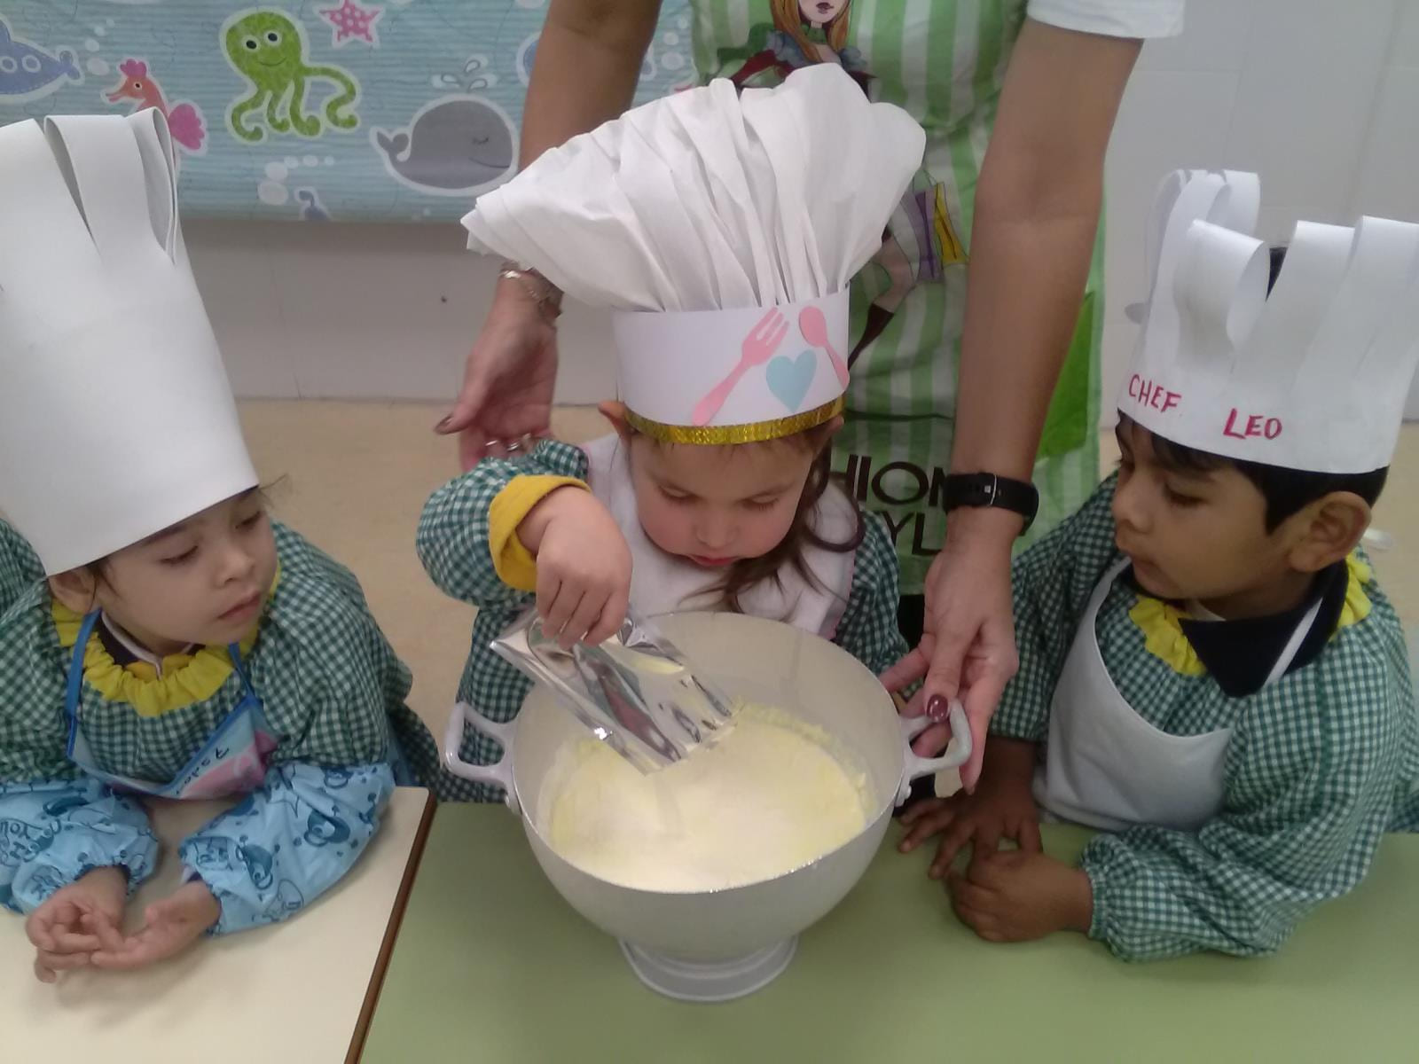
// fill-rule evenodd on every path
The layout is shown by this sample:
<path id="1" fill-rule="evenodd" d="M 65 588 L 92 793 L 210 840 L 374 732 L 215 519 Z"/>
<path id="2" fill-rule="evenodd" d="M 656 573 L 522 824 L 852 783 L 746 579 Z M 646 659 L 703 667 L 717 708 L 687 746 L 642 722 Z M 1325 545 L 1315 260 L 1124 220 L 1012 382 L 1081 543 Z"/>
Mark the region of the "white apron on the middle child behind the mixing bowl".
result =
<path id="1" fill-rule="evenodd" d="M 620 437 L 607 436 L 583 448 L 590 465 L 589 481 L 596 495 L 616 518 L 630 546 L 630 604 L 643 617 L 677 610 L 717 609 L 707 593 L 722 573 L 705 570 L 692 562 L 673 558 L 650 542 L 636 514 L 636 489 L 631 485 L 627 448 Z M 851 502 L 830 487 L 817 504 L 815 528 L 829 542 L 843 542 L 853 533 Z M 762 580 L 739 596 L 741 609 L 752 617 L 782 620 L 795 628 L 833 638 L 847 609 L 853 589 L 853 552 L 834 553 L 819 546 L 803 552 L 815 587 L 793 566 L 785 566 L 779 580 Z"/>

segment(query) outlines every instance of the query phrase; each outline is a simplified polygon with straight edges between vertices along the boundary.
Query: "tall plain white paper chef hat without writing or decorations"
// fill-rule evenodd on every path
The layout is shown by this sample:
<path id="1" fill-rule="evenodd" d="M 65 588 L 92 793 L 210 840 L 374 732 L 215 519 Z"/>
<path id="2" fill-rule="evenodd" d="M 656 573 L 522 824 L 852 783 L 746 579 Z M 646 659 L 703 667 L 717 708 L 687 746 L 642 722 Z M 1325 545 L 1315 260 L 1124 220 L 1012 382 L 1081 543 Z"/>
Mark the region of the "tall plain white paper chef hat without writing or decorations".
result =
<path id="1" fill-rule="evenodd" d="M 0 511 L 54 575 L 255 484 L 162 113 L 0 128 Z"/>

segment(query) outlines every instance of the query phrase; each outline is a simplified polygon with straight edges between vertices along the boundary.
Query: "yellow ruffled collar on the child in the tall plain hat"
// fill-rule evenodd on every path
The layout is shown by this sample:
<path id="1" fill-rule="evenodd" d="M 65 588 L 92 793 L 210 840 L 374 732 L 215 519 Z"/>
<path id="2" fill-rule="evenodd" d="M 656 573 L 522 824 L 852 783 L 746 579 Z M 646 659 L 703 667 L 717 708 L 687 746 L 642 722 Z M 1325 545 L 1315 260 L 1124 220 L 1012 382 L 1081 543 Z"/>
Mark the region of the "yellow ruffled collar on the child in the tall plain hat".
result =
<path id="1" fill-rule="evenodd" d="M 281 582 L 277 567 L 275 580 L 267 596 L 270 603 Z M 50 614 L 60 645 L 72 650 L 84 626 L 82 614 L 74 613 L 58 599 L 53 599 Z M 238 644 L 243 657 L 255 647 L 260 626 L 251 630 Z M 184 709 L 194 702 L 211 698 L 231 677 L 231 655 L 226 647 L 200 647 L 190 654 L 170 654 L 163 658 L 162 675 L 146 661 L 119 665 L 104 647 L 95 631 L 84 647 L 84 681 L 111 702 L 126 702 L 139 716 L 162 716 L 175 709 Z"/>

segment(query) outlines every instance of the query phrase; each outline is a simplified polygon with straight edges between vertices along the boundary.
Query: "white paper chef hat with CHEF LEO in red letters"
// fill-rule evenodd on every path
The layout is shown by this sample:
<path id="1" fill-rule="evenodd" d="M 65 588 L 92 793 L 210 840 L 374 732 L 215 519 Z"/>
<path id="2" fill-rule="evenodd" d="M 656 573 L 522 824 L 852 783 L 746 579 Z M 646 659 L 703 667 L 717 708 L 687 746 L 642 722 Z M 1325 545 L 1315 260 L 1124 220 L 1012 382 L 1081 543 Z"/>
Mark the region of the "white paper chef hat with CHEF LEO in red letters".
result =
<path id="1" fill-rule="evenodd" d="M 1419 226 L 1297 223 L 1267 297 L 1253 173 L 1178 170 L 1149 226 L 1152 295 L 1118 410 L 1230 458 L 1389 464 L 1419 362 Z"/>

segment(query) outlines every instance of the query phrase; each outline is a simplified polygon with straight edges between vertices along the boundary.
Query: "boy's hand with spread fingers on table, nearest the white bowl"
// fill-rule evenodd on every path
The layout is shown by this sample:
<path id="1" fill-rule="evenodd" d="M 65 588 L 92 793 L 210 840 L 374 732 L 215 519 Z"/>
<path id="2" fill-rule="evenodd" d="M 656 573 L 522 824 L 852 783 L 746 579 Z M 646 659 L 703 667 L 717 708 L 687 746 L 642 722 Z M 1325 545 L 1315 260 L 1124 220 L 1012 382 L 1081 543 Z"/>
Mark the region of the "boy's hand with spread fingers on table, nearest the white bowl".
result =
<path id="1" fill-rule="evenodd" d="M 976 858 L 993 854 L 1002 838 L 1015 841 L 1026 853 L 1039 853 L 1040 821 L 1030 790 L 1033 773 L 1034 743 L 992 739 L 975 794 L 959 790 L 908 809 L 901 816 L 907 837 L 898 850 L 908 854 L 939 834 L 937 857 L 927 870 L 932 880 L 949 871 L 966 843 Z"/>

